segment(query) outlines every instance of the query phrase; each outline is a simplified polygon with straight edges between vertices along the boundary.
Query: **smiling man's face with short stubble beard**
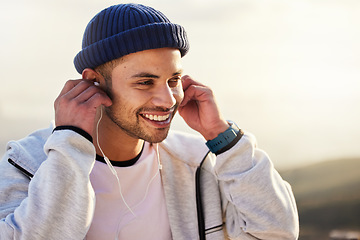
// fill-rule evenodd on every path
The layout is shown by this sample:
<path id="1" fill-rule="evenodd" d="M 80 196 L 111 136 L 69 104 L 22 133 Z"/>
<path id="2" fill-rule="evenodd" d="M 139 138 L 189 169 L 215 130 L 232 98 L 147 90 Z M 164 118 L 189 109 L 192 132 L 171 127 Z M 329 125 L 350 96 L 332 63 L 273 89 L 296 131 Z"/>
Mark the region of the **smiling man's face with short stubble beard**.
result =
<path id="1" fill-rule="evenodd" d="M 163 141 L 184 93 L 180 51 L 160 48 L 125 56 L 111 74 L 107 116 L 129 136 Z"/>

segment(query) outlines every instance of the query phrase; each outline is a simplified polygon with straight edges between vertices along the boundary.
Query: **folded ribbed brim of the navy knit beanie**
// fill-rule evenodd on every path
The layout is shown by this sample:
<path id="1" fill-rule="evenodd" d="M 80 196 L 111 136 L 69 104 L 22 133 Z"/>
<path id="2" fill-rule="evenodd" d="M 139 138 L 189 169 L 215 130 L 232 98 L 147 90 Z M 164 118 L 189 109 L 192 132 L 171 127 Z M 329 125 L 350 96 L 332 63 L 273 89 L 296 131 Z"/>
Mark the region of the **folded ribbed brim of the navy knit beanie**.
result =
<path id="1" fill-rule="evenodd" d="M 125 55 L 157 48 L 177 48 L 181 56 L 189 50 L 185 29 L 170 22 L 142 25 L 102 39 L 83 48 L 75 57 L 78 73 L 95 68 Z"/>

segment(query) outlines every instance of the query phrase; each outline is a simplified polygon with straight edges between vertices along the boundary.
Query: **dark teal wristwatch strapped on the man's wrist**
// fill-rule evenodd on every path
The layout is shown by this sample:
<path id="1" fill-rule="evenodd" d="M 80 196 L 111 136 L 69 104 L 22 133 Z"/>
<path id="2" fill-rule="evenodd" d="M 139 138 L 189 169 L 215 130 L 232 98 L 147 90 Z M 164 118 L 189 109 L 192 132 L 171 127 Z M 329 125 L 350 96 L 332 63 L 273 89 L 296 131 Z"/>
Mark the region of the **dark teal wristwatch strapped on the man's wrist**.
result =
<path id="1" fill-rule="evenodd" d="M 242 136 L 240 128 L 234 122 L 227 122 L 230 126 L 228 129 L 226 129 L 225 132 L 220 133 L 216 138 L 206 142 L 206 146 L 208 146 L 210 151 L 213 153 L 218 153 L 220 150 L 224 149 L 230 143 L 232 143 L 235 139 L 240 139 L 240 137 Z"/>

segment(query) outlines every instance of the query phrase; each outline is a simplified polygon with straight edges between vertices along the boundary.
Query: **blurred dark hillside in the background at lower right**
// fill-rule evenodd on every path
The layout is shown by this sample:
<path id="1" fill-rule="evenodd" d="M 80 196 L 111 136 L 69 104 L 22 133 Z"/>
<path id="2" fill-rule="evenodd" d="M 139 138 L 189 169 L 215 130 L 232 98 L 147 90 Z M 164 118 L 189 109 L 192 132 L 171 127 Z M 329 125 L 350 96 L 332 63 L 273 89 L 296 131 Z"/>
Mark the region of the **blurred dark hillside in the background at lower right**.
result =
<path id="1" fill-rule="evenodd" d="M 300 239 L 329 239 L 333 229 L 360 230 L 360 159 L 342 159 L 281 172 L 293 187 Z"/>

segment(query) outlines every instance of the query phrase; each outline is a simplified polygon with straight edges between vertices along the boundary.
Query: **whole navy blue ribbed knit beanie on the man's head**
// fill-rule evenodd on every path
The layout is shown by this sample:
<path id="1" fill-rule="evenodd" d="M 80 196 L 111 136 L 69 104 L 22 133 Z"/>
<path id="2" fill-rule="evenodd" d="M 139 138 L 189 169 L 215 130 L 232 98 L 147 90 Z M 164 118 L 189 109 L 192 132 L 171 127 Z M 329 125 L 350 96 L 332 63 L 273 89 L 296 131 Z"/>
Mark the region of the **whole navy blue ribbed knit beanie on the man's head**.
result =
<path id="1" fill-rule="evenodd" d="M 151 7 L 119 4 L 89 22 L 74 65 L 81 74 L 130 53 L 163 47 L 177 48 L 183 57 L 189 50 L 185 29 Z"/>

